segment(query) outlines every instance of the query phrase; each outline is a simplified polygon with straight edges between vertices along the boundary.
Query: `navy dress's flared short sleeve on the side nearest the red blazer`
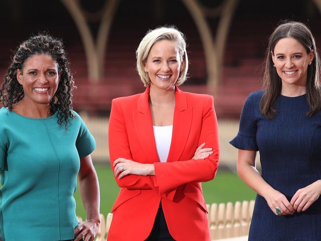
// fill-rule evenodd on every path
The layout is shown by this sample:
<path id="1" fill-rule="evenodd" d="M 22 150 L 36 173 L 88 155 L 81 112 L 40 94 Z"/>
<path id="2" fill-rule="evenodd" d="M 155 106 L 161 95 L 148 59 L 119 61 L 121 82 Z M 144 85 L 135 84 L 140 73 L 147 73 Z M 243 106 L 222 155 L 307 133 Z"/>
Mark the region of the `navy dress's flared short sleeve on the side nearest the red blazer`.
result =
<path id="1" fill-rule="evenodd" d="M 255 99 L 256 98 L 253 98 L 252 93 L 245 100 L 243 110 L 241 113 L 240 128 L 238 135 L 232 141 L 230 141 L 231 145 L 241 150 L 259 150 L 256 143 L 256 110 L 258 108 L 258 103 L 257 101 L 255 101 Z"/>

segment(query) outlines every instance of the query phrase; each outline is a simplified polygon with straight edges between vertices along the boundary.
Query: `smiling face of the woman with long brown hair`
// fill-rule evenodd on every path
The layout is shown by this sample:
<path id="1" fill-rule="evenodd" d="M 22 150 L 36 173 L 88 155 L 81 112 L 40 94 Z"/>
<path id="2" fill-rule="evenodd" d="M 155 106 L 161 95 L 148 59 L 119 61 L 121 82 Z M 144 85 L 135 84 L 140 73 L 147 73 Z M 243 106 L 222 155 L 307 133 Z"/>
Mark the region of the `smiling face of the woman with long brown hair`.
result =
<path id="1" fill-rule="evenodd" d="M 282 88 L 292 84 L 306 86 L 308 66 L 314 58 L 313 50 L 308 54 L 298 40 L 283 38 L 277 42 L 271 56 L 282 80 Z"/>

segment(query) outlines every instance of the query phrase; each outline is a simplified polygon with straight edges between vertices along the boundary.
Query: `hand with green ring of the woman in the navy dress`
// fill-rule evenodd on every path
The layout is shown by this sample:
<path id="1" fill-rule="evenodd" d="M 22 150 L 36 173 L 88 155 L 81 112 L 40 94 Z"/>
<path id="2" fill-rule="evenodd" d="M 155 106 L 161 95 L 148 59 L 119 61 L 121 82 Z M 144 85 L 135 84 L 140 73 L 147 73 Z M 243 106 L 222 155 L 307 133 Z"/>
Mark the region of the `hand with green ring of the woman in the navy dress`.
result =
<path id="1" fill-rule="evenodd" d="M 267 191 L 264 198 L 275 215 L 291 215 L 295 211 L 286 197 L 275 189 Z M 277 213 L 276 207 L 281 209 L 281 214 Z"/>

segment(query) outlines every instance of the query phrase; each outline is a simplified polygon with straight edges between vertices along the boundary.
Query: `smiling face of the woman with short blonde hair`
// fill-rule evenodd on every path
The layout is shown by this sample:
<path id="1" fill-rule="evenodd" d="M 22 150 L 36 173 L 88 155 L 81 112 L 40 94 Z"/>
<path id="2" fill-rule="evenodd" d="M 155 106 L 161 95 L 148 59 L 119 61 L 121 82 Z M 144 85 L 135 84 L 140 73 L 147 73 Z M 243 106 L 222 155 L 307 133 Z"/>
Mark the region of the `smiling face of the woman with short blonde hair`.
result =
<path id="1" fill-rule="evenodd" d="M 161 40 L 154 43 L 144 64 L 151 88 L 173 89 L 184 67 L 180 59 L 175 41 Z"/>

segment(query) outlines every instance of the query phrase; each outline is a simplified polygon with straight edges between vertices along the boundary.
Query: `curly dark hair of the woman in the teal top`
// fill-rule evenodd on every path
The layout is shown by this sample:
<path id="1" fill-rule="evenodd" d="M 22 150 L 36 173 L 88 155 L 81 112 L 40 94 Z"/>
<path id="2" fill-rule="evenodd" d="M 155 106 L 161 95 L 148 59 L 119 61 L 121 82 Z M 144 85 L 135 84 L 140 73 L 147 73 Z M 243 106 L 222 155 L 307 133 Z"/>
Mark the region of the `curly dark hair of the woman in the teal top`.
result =
<path id="1" fill-rule="evenodd" d="M 50 112 L 58 112 L 58 124 L 64 123 L 67 130 L 68 118 L 76 118 L 72 106 L 72 90 L 76 86 L 62 41 L 50 35 L 39 34 L 20 44 L 14 53 L 7 73 L 4 75 L 0 89 L 0 105 L 12 111 L 13 105 L 24 97 L 23 87 L 17 80 L 17 69 L 22 72 L 26 60 L 36 54 L 48 54 L 58 64 L 60 81 L 57 91 L 49 103 L 49 109 Z"/>

